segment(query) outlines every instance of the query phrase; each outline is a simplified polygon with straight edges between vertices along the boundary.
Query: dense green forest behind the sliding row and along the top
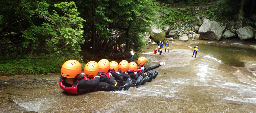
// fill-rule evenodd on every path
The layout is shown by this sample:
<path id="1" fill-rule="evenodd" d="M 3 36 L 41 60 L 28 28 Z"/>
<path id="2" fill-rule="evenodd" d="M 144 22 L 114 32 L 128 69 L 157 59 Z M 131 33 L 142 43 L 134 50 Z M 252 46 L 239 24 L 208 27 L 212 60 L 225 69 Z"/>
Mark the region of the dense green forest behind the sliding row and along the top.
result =
<path id="1" fill-rule="evenodd" d="M 63 62 L 70 59 L 80 61 L 84 67 L 90 60 L 108 59 L 109 53 L 141 53 L 149 25 L 163 29 L 163 25 L 174 27 L 177 21 L 196 18 L 168 7 L 183 2 L 198 1 L 1 0 L 0 76 L 59 73 Z M 255 10 L 255 0 L 212 2 L 212 12 L 222 13 L 207 15 L 224 20 L 238 14 L 239 25 Z M 156 16 L 158 12 L 163 13 L 162 17 Z"/>

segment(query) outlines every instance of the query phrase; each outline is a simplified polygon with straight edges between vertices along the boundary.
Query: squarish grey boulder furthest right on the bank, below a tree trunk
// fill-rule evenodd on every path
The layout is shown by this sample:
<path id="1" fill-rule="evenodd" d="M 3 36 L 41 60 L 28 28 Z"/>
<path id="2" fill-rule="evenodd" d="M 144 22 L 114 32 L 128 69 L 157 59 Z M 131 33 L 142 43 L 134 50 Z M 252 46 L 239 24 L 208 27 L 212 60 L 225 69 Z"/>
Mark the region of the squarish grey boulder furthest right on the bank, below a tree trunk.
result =
<path id="1" fill-rule="evenodd" d="M 236 30 L 236 34 L 241 40 L 253 38 L 253 28 L 251 26 L 243 27 Z"/>

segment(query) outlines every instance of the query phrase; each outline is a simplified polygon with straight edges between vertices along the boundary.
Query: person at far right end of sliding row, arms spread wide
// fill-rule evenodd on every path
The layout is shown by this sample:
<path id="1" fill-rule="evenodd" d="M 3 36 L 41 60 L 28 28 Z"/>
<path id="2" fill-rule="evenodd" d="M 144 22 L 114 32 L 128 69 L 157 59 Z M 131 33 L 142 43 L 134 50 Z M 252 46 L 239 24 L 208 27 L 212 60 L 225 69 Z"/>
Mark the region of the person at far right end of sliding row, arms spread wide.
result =
<path id="1" fill-rule="evenodd" d="M 134 51 L 133 50 L 131 51 L 131 62 L 134 62 Z M 137 63 L 138 63 L 138 65 L 137 65 L 137 70 L 136 71 L 140 71 L 142 74 L 148 76 L 148 81 L 147 82 L 152 81 L 152 79 L 155 79 L 156 76 L 158 75 L 158 71 L 155 71 L 155 73 L 153 73 L 153 72 L 150 72 L 150 70 L 156 69 L 156 68 L 159 68 L 160 66 L 165 65 L 165 62 L 160 62 L 160 64 L 158 64 L 158 65 L 150 66 L 150 67 L 146 68 L 146 67 L 143 66 L 146 63 L 146 58 L 143 57 L 143 56 L 138 58 Z M 148 72 L 148 73 L 145 74 L 146 72 Z M 143 79 L 143 81 L 144 81 L 144 79 Z M 142 84 L 144 84 L 144 83 L 142 83 Z"/>

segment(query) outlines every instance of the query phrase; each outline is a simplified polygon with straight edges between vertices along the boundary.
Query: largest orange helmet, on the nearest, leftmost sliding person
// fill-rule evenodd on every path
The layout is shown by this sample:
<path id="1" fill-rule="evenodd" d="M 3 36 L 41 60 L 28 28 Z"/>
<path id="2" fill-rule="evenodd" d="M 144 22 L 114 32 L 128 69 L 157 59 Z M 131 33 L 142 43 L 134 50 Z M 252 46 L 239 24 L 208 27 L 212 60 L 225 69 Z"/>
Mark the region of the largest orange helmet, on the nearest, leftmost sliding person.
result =
<path id="1" fill-rule="evenodd" d="M 61 67 L 61 75 L 71 79 L 75 78 L 81 71 L 81 64 L 77 60 L 68 60 Z"/>

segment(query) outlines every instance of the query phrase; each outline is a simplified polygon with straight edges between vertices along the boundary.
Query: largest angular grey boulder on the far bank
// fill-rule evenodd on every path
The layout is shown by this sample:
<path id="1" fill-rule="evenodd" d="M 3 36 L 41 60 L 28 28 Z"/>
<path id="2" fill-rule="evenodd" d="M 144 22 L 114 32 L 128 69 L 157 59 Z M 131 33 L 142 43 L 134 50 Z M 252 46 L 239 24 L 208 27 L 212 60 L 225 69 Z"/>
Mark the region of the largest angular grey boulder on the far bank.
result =
<path id="1" fill-rule="evenodd" d="M 199 28 L 198 33 L 203 39 L 218 41 L 221 38 L 222 31 L 223 29 L 220 27 L 220 23 L 205 19 L 204 23 Z"/>

